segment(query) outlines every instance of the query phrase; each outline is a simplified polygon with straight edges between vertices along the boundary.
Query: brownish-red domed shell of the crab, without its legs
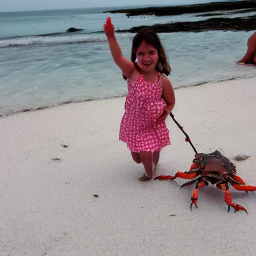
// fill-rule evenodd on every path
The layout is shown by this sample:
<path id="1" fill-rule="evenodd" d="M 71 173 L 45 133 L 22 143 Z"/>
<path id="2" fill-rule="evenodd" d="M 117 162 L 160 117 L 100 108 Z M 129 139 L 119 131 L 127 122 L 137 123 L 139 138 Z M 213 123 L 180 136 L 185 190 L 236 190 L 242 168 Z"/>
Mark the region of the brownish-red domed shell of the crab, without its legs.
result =
<path id="1" fill-rule="evenodd" d="M 230 173 L 236 173 L 236 166 L 218 150 L 208 154 L 197 153 L 194 156 L 190 170 L 199 168 L 204 173 L 216 172 L 220 176 L 227 176 Z"/>

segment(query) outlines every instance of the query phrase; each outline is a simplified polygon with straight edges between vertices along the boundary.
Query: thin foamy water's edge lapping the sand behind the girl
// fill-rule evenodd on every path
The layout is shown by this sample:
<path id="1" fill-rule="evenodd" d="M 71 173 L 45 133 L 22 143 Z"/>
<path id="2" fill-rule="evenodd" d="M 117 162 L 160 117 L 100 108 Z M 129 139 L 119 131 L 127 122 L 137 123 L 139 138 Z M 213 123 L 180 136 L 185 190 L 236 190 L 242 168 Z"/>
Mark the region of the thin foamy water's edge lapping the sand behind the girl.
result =
<path id="1" fill-rule="evenodd" d="M 245 79 L 245 78 L 252 78 L 252 77 L 256 77 L 256 74 L 255 75 L 241 75 L 241 76 L 227 77 L 226 79 L 222 78 L 222 79 L 212 79 L 212 80 L 208 80 L 208 81 L 201 81 L 199 83 L 194 83 L 194 84 L 191 83 L 191 84 L 187 84 L 187 85 L 183 85 L 183 86 L 179 86 L 179 87 L 174 87 L 174 89 L 179 89 L 179 88 L 183 88 L 183 87 L 190 87 L 190 86 L 198 86 L 198 85 L 203 86 L 203 84 L 207 84 L 207 83 L 228 81 L 228 80 L 233 80 L 233 79 Z M 67 103 L 78 103 L 78 102 L 86 102 L 86 101 L 91 101 L 91 100 L 120 98 L 120 97 L 125 97 L 125 96 L 126 96 L 126 93 L 120 93 L 120 94 L 115 94 L 115 95 L 92 97 L 92 98 L 68 99 L 68 100 L 65 100 L 65 101 L 57 102 L 57 103 L 50 103 L 50 104 L 34 106 L 34 107 L 24 107 L 24 108 L 21 108 L 19 110 L 9 110 L 8 112 L 0 113 L 0 118 L 7 117 L 7 116 L 10 116 L 10 115 L 14 115 L 14 114 L 18 114 L 18 113 L 21 113 L 21 112 L 35 111 L 35 110 L 50 108 L 50 107 L 53 107 L 53 106 L 63 105 L 63 104 L 67 104 Z M 3 107 L 0 106 L 0 108 L 3 108 Z"/>

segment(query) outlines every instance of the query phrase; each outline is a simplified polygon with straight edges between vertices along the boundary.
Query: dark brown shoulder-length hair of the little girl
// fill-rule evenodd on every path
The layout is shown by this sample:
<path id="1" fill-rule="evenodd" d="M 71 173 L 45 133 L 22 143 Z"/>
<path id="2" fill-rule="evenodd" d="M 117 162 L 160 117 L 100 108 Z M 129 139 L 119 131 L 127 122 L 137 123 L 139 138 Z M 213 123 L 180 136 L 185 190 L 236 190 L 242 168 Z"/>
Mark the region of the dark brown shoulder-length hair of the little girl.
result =
<path id="1" fill-rule="evenodd" d="M 145 41 L 147 44 L 157 49 L 158 61 L 155 66 L 155 69 L 159 73 L 164 73 L 166 75 L 169 75 L 171 69 L 167 61 L 167 56 L 165 54 L 165 51 L 163 49 L 159 36 L 152 29 L 141 30 L 137 32 L 137 34 L 132 39 L 130 60 L 134 63 L 135 67 L 138 67 L 137 64 L 135 63 L 136 50 L 142 41 Z M 127 79 L 125 75 L 122 75 L 122 76 L 125 80 Z"/>

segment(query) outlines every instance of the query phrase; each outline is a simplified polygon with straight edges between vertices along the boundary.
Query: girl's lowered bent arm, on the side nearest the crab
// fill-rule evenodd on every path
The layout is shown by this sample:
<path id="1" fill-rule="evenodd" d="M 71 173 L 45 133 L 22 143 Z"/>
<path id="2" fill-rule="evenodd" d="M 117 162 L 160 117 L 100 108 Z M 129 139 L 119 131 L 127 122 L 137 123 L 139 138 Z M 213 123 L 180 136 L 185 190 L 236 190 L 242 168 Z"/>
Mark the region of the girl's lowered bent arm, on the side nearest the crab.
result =
<path id="1" fill-rule="evenodd" d="M 161 76 L 161 85 L 162 85 L 162 97 L 165 100 L 167 106 L 164 109 L 162 115 L 158 118 L 157 122 L 161 122 L 165 120 L 166 117 L 171 113 L 175 105 L 175 94 L 169 79 L 165 76 Z"/>

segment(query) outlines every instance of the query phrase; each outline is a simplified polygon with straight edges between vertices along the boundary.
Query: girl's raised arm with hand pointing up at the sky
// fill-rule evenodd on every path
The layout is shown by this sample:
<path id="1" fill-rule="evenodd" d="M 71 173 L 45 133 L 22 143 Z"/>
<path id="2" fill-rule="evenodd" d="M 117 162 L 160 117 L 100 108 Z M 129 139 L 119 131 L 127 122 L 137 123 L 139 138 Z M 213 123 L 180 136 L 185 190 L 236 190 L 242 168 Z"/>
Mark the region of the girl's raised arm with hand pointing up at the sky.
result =
<path id="1" fill-rule="evenodd" d="M 108 45 L 113 57 L 113 60 L 117 66 L 120 67 L 122 70 L 122 73 L 129 77 L 131 72 L 135 69 L 134 64 L 129 59 L 125 58 L 122 55 L 122 51 L 120 49 L 120 46 L 114 36 L 114 26 L 111 23 L 111 18 L 107 17 L 106 23 L 103 25 L 104 32 L 107 37 Z"/>

